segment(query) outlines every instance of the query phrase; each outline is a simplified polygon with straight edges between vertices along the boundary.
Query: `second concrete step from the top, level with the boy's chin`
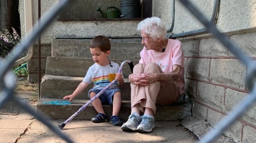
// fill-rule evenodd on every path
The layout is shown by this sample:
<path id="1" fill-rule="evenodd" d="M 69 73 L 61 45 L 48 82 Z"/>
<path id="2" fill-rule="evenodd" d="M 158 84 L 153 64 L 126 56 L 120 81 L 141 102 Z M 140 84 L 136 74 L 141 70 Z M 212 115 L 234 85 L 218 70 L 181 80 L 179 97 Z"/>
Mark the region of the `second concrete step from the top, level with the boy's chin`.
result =
<path id="1" fill-rule="evenodd" d="M 121 65 L 124 60 L 109 59 Z M 139 60 L 131 60 L 133 65 L 139 63 Z M 47 57 L 46 71 L 47 75 L 55 76 L 81 76 L 84 77 L 87 70 L 95 62 L 90 58 L 67 58 L 67 57 Z M 128 63 L 123 66 L 123 76 L 128 78 L 131 74 Z"/>

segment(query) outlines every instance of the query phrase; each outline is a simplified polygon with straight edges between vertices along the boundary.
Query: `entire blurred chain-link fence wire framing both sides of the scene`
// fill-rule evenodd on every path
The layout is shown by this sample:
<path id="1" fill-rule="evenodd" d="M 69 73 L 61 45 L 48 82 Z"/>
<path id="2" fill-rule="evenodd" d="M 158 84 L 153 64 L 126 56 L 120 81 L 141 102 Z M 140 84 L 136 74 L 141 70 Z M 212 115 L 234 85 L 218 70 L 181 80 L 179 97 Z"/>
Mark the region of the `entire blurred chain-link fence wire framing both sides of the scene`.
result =
<path id="1" fill-rule="evenodd" d="M 52 131 L 54 131 L 59 137 L 64 139 L 66 142 L 72 143 L 73 141 L 66 136 L 62 131 L 52 125 L 49 122 L 49 119 L 43 116 L 40 113 L 36 113 L 34 109 L 29 107 L 24 101 L 20 100 L 18 97 L 14 96 L 14 90 L 16 87 L 15 81 L 16 77 L 10 71 L 12 65 L 16 60 L 19 59 L 19 56 L 24 53 L 31 44 L 36 40 L 36 38 L 47 28 L 47 25 L 53 21 L 53 19 L 58 15 L 61 9 L 64 9 L 66 5 L 69 5 L 71 2 L 75 0 L 59 0 L 59 3 L 52 8 L 52 11 L 49 14 L 45 14 L 40 20 L 40 24 L 33 29 L 31 34 L 27 37 L 27 39 L 22 39 L 19 45 L 15 48 L 15 53 L 12 50 L 10 54 L 5 57 L 5 59 L 0 60 L 0 108 L 9 100 L 15 101 L 21 108 L 35 116 L 40 122 L 49 127 Z M 199 12 L 199 10 L 194 7 L 188 0 L 180 0 L 180 2 L 187 7 L 187 9 L 196 16 L 196 18 L 205 26 L 208 32 L 211 32 L 225 47 L 227 47 L 239 60 L 241 60 L 248 68 L 247 70 L 247 78 L 246 83 L 250 94 L 247 98 L 244 99 L 232 112 L 229 113 L 226 118 L 221 120 L 221 122 L 216 126 L 215 129 L 211 130 L 204 138 L 201 139 L 200 143 L 210 143 L 213 142 L 222 132 L 230 127 L 239 116 L 241 116 L 247 109 L 256 101 L 256 62 L 245 55 L 237 46 L 232 44 L 228 37 L 221 34 L 215 25 L 210 23 L 206 19 L 206 17 Z"/>

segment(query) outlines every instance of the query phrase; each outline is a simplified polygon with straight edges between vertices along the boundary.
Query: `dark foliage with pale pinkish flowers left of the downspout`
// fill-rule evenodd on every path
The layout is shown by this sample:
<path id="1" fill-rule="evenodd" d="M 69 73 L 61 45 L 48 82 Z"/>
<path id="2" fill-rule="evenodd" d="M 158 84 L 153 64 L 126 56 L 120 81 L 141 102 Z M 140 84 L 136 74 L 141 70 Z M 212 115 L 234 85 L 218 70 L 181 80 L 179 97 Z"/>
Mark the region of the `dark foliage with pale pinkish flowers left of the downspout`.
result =
<path id="1" fill-rule="evenodd" d="M 19 44 L 21 37 L 17 31 L 12 28 L 13 32 L 10 33 L 7 29 L 3 32 L 0 31 L 0 57 L 5 57 L 12 50 L 12 48 Z"/>

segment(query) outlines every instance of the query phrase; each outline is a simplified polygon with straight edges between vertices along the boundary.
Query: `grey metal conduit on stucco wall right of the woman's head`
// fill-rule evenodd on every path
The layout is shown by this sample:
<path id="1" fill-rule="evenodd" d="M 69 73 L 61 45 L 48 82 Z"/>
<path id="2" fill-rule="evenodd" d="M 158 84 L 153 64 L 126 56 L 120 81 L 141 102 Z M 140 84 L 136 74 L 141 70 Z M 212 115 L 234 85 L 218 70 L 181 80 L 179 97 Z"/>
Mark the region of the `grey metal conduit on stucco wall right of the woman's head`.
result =
<path id="1" fill-rule="evenodd" d="M 175 0 L 173 0 L 173 1 L 175 1 Z M 214 0 L 213 12 L 212 12 L 212 15 L 211 15 L 211 23 L 213 23 L 213 24 L 215 24 L 215 20 L 216 20 L 216 17 L 217 17 L 217 13 L 218 13 L 218 9 L 219 9 L 219 2 L 220 2 L 220 0 Z M 175 2 L 173 2 L 173 9 L 175 8 L 174 4 L 175 4 Z M 173 17 L 174 17 L 174 10 L 173 10 Z M 174 18 L 173 18 L 173 21 L 172 21 L 172 25 L 174 25 Z M 170 30 L 171 31 L 173 30 L 173 26 L 170 28 Z M 167 32 L 171 32 L 171 31 L 167 31 Z M 170 39 L 175 39 L 175 38 L 185 37 L 185 36 L 190 36 L 190 35 L 195 35 L 195 34 L 203 34 L 203 33 L 206 33 L 206 32 L 207 32 L 206 28 L 201 28 L 201 29 L 192 30 L 192 31 L 189 31 L 189 32 L 183 32 L 183 33 L 179 33 L 179 34 L 172 34 L 169 38 Z"/>

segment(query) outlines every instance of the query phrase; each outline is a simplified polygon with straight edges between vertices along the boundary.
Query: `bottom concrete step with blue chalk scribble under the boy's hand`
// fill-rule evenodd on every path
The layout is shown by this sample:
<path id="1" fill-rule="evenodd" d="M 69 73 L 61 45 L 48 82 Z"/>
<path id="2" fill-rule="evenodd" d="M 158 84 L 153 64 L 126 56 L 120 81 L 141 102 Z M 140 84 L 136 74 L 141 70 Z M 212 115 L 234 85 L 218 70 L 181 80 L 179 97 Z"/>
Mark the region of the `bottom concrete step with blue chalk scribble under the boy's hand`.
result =
<path id="1" fill-rule="evenodd" d="M 73 99 L 72 104 L 69 105 L 52 105 L 43 104 L 43 102 L 56 101 L 62 99 L 48 99 L 41 98 L 38 101 L 36 110 L 43 111 L 51 119 L 68 119 L 71 115 L 76 113 L 79 108 L 88 102 L 88 100 L 83 99 Z M 109 117 L 112 114 L 112 106 L 103 105 L 104 111 L 108 113 Z M 178 101 L 171 106 L 156 106 L 157 111 L 155 118 L 157 121 L 167 121 L 167 120 L 182 120 L 187 116 L 191 115 L 192 105 L 187 101 Z M 122 120 L 127 120 L 130 115 L 130 101 L 123 100 L 119 116 Z M 81 113 L 79 113 L 74 119 L 78 120 L 91 120 L 95 117 L 97 112 L 95 108 L 90 104 Z"/>

